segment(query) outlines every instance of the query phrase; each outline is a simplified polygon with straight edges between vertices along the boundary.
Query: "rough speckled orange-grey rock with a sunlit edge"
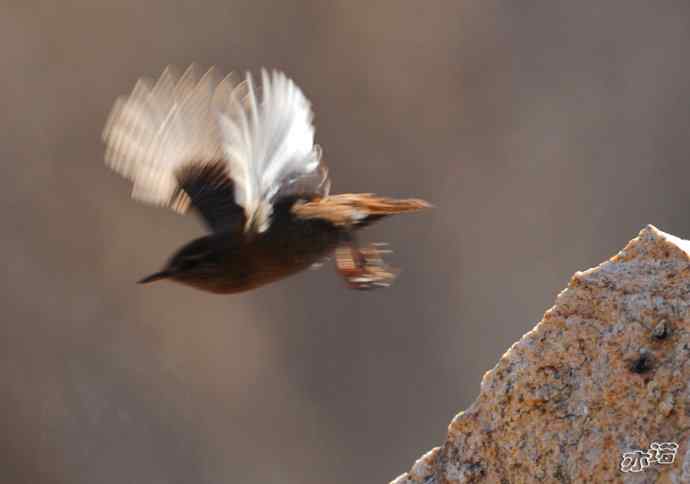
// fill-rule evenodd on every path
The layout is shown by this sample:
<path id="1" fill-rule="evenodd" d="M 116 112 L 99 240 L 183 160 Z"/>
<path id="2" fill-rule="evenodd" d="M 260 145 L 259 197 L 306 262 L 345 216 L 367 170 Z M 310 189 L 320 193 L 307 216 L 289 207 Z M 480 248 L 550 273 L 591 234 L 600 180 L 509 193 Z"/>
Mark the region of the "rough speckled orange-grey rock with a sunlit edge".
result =
<path id="1" fill-rule="evenodd" d="M 690 242 L 647 226 L 573 276 L 393 483 L 690 483 L 689 379 Z"/>

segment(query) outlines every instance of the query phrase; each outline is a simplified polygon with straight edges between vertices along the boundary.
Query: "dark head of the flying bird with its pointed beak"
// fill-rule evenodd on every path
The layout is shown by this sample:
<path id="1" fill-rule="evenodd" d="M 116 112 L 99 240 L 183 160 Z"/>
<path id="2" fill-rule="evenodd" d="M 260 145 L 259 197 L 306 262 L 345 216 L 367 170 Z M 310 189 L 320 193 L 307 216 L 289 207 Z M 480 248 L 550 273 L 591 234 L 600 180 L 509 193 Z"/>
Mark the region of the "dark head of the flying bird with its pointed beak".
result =
<path id="1" fill-rule="evenodd" d="M 213 276 L 222 270 L 222 250 L 213 236 L 193 240 L 179 249 L 163 269 L 137 281 L 139 284 L 173 279 L 178 282 L 194 282 Z"/>

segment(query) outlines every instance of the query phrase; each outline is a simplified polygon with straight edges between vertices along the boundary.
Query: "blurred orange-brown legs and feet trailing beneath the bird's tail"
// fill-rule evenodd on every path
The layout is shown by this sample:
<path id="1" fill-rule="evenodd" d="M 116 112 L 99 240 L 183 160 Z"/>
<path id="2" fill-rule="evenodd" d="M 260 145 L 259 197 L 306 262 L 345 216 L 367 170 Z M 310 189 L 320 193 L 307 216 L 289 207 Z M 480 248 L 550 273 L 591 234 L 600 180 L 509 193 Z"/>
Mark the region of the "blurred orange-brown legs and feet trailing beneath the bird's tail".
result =
<path id="1" fill-rule="evenodd" d="M 354 234 L 350 233 L 338 246 L 335 262 L 338 271 L 353 289 L 373 289 L 390 286 L 397 271 L 387 266 L 382 255 L 391 252 L 386 244 L 370 244 L 360 248 Z"/>

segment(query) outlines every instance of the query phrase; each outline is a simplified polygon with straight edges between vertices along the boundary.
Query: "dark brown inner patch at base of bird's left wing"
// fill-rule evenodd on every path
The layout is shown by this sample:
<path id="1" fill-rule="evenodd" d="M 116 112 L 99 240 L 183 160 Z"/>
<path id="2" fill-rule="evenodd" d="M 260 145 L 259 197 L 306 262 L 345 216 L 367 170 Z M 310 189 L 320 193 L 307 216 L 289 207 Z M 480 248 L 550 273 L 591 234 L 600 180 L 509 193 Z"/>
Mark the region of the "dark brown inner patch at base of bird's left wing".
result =
<path id="1" fill-rule="evenodd" d="M 176 178 L 180 190 L 212 231 L 244 228 L 244 209 L 235 202 L 233 181 L 224 161 L 189 163 L 177 171 Z"/>

